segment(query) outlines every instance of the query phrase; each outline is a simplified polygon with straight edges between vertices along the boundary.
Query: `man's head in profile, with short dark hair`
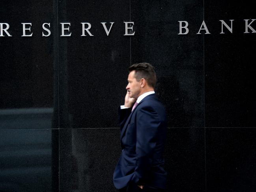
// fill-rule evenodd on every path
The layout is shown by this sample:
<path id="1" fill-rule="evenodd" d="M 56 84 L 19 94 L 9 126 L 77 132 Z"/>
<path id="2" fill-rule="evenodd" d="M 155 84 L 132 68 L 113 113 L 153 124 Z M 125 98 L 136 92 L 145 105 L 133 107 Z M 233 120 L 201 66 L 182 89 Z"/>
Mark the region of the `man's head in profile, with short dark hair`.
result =
<path id="1" fill-rule="evenodd" d="M 137 99 L 145 92 L 153 91 L 157 77 L 152 65 L 137 63 L 129 67 L 128 85 L 129 97 Z"/>

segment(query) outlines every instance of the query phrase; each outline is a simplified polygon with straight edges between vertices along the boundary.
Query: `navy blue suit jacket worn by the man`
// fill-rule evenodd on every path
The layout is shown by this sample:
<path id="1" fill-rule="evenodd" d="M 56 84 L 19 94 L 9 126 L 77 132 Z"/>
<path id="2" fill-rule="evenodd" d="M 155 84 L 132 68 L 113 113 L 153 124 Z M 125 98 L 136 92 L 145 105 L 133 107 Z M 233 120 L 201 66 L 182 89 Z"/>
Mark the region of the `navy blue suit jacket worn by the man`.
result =
<path id="1" fill-rule="evenodd" d="M 116 188 L 129 182 L 165 188 L 166 130 L 166 112 L 155 94 L 142 99 L 133 112 L 120 109 L 122 152 L 113 175 Z"/>

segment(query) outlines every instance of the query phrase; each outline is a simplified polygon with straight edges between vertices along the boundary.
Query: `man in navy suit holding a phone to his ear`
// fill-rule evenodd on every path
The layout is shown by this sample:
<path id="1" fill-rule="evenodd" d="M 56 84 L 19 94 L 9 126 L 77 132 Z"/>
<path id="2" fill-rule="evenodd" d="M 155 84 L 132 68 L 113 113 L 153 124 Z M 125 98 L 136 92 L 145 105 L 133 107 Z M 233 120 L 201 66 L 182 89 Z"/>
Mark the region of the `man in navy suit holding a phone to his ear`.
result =
<path id="1" fill-rule="evenodd" d="M 162 192 L 166 113 L 155 96 L 156 75 L 149 63 L 129 67 L 127 94 L 120 106 L 122 152 L 114 171 L 120 192 Z"/>

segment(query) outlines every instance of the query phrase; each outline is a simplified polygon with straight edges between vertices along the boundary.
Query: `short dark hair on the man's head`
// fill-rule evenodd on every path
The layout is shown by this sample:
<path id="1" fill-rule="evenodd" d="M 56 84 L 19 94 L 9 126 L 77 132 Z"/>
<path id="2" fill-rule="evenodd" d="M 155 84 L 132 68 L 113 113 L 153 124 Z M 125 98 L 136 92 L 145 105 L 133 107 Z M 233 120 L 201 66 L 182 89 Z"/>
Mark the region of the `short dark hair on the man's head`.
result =
<path id="1" fill-rule="evenodd" d="M 146 79 L 148 85 L 152 88 L 155 87 L 157 82 L 157 75 L 155 74 L 154 67 L 149 63 L 136 63 L 129 67 L 129 71 L 135 70 L 136 81 L 139 81 L 141 78 Z"/>

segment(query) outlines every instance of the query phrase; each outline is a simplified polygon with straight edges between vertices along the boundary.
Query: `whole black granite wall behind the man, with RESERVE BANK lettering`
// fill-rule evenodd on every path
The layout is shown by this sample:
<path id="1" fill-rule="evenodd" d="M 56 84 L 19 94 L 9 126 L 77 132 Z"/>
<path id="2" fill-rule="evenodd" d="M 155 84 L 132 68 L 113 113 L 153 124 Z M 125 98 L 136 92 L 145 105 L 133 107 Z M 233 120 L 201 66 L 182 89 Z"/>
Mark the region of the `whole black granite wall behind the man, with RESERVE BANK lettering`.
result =
<path id="1" fill-rule="evenodd" d="M 167 191 L 256 190 L 253 1 L 0 5 L 0 23 L 12 35 L 0 36 L 0 191 L 117 191 L 117 108 L 127 68 L 138 62 L 155 66 L 168 114 Z M 220 34 L 219 20 L 234 20 L 232 33 L 224 27 Z M 133 36 L 124 35 L 129 21 Z M 178 35 L 178 21 L 188 22 L 188 34 Z M 203 21 L 210 34 L 197 34 Z M 71 36 L 61 36 L 64 22 Z M 93 36 L 81 36 L 81 22 Z M 101 22 L 114 22 L 109 35 Z M 22 37 L 21 23 L 32 23 L 31 37 Z"/>

